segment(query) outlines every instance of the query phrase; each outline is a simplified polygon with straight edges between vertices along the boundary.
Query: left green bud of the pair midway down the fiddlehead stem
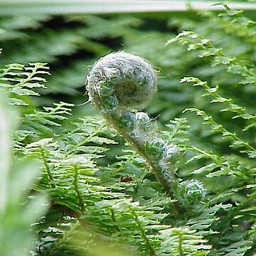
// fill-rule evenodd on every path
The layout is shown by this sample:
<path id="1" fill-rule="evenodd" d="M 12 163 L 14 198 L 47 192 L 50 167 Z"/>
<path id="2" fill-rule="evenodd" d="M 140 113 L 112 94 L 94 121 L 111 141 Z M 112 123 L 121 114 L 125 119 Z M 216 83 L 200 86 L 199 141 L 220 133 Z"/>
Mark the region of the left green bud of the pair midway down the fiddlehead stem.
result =
<path id="1" fill-rule="evenodd" d="M 161 138 L 155 138 L 146 142 L 146 153 L 154 159 L 162 159 L 166 155 L 166 150 L 166 143 Z"/>

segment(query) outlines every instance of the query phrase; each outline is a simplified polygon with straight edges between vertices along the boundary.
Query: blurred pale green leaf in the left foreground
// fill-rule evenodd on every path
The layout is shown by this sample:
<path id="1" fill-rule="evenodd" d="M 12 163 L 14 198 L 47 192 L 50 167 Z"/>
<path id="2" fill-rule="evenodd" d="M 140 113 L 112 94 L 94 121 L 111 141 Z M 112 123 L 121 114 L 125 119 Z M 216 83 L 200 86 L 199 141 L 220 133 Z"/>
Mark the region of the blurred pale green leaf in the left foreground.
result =
<path id="1" fill-rule="evenodd" d="M 3 94 L 3 90 L 1 90 Z M 14 159 L 11 154 L 11 132 L 16 124 L 11 119 L 16 113 L 9 110 L 1 95 L 0 155 L 1 155 L 1 255 L 28 255 L 35 233 L 31 225 L 46 212 L 46 197 L 29 194 L 38 178 L 39 168 L 33 159 Z M 33 230 L 34 231 L 34 230 Z M 15 246 L 14 246 L 15 245 Z"/>

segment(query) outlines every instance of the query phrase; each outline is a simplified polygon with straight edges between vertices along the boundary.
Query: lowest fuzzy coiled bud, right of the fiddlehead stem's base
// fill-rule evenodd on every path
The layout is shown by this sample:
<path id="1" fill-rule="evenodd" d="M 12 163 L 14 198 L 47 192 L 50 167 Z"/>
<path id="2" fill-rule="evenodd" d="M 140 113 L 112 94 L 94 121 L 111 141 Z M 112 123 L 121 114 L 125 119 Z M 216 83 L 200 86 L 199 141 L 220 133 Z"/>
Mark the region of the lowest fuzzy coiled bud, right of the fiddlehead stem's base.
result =
<path id="1" fill-rule="evenodd" d="M 201 181 L 192 179 L 178 184 L 176 196 L 184 205 L 189 206 L 202 201 L 206 196 L 206 190 Z"/>

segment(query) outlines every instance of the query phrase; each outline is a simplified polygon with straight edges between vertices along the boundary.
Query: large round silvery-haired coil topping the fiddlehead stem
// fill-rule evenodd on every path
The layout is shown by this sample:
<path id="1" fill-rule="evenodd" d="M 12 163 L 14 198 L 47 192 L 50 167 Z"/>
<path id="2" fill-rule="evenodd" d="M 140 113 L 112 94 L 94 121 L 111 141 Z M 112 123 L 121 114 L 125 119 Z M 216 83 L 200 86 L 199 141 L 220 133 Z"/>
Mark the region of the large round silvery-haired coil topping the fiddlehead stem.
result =
<path id="1" fill-rule="evenodd" d="M 156 92 L 156 71 L 139 56 L 123 51 L 110 53 L 95 62 L 86 89 L 102 112 L 137 107 Z"/>

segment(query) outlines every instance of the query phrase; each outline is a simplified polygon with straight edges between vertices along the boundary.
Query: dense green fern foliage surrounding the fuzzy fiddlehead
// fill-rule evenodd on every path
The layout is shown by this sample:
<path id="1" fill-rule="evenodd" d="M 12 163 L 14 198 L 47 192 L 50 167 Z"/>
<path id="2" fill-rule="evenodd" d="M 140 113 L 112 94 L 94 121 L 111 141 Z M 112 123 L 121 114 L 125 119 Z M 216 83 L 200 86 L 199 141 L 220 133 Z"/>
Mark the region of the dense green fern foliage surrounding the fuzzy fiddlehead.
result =
<path id="1" fill-rule="evenodd" d="M 0 255 L 254 255 L 255 21 L 191 14 L 0 18 Z M 176 196 L 80 105 L 120 49 L 159 70 L 144 108 L 183 151 Z"/>

